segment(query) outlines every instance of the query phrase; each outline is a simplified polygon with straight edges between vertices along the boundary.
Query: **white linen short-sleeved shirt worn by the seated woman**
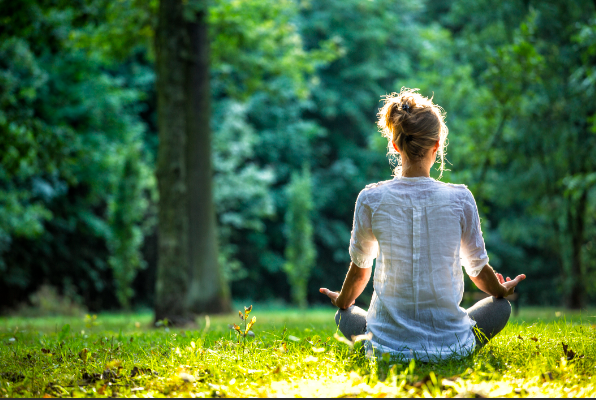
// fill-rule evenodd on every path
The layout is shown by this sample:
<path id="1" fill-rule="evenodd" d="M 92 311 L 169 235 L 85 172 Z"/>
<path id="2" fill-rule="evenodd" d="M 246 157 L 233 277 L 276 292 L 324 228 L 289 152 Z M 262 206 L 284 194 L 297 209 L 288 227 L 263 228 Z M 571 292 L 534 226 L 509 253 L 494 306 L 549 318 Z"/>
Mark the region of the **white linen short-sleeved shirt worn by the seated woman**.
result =
<path id="1" fill-rule="evenodd" d="M 358 195 L 350 256 L 376 258 L 369 345 L 405 360 L 461 357 L 474 349 L 475 322 L 459 306 L 464 279 L 488 263 L 478 209 L 465 185 L 395 178 Z"/>

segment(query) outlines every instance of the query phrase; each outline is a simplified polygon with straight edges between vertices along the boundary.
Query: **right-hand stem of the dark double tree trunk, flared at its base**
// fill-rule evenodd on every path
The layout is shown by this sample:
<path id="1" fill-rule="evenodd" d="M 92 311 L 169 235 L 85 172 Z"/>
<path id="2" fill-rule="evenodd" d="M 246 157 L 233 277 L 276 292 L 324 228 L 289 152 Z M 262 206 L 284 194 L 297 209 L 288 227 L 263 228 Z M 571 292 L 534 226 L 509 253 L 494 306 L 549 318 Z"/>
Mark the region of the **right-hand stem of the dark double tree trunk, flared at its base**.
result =
<path id="1" fill-rule="evenodd" d="M 187 112 L 187 185 L 190 291 L 188 305 L 196 313 L 231 310 L 229 290 L 217 260 L 213 204 L 209 90 L 209 39 L 206 6 L 188 23 L 189 60 Z"/>

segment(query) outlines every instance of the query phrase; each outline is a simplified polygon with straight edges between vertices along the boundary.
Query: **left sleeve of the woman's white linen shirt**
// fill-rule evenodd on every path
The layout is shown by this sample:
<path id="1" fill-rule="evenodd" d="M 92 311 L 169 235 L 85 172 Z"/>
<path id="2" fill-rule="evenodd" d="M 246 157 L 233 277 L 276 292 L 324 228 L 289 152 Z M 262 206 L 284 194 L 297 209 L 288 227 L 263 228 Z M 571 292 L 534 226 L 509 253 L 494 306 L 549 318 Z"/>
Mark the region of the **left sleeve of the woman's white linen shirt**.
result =
<path id="1" fill-rule="evenodd" d="M 350 258 L 360 268 L 371 268 L 379 254 L 379 244 L 372 231 L 372 210 L 366 204 L 366 192 L 356 200 L 354 227 L 350 238 Z"/>

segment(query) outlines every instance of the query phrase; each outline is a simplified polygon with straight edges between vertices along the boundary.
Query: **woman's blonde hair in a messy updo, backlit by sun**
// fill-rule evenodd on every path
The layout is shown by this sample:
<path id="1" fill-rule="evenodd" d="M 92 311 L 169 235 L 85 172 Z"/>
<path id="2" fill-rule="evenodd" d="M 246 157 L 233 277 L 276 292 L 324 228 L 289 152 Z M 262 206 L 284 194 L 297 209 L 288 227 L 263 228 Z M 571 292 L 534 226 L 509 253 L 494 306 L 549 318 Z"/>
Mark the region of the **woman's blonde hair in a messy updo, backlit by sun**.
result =
<path id="1" fill-rule="evenodd" d="M 445 112 L 433 103 L 432 98 L 422 96 L 418 90 L 420 89 L 402 88 L 399 93 L 384 96 L 377 125 L 383 136 L 388 139 L 388 153 L 393 158 L 392 165 L 395 166 L 396 176 L 402 175 L 401 157 L 420 160 L 438 140 L 437 158 L 441 162 L 439 167 L 439 179 L 441 179 L 445 170 L 445 148 L 449 133 L 445 125 Z M 397 145 L 401 151 L 401 157 L 391 142 Z"/>

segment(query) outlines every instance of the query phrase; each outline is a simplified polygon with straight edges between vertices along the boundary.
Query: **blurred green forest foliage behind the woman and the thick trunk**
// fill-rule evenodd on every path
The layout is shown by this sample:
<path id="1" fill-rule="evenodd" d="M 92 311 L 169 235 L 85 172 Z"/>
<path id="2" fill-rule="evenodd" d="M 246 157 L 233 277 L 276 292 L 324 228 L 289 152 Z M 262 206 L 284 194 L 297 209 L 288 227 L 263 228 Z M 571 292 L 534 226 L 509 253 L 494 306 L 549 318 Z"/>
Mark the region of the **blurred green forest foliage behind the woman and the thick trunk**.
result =
<path id="1" fill-rule="evenodd" d="M 48 288 L 153 305 L 157 6 L 0 1 L 3 312 Z M 491 264 L 528 275 L 521 301 L 596 301 L 596 2 L 213 0 L 208 23 L 233 298 L 341 287 L 356 196 L 391 179 L 379 100 L 405 86 L 447 111 L 442 180 L 474 193 Z"/>

